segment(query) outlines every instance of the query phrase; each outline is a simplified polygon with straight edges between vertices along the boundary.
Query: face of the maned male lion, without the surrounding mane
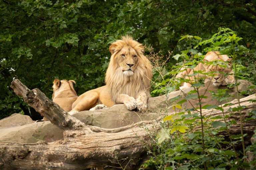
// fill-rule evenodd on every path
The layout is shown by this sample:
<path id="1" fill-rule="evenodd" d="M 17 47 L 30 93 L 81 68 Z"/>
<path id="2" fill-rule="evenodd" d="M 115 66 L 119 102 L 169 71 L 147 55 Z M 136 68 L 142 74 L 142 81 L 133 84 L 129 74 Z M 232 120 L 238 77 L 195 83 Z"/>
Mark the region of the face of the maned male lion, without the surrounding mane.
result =
<path id="1" fill-rule="evenodd" d="M 137 66 L 138 54 L 133 48 L 123 47 L 116 55 L 115 59 L 125 76 L 132 76 Z"/>

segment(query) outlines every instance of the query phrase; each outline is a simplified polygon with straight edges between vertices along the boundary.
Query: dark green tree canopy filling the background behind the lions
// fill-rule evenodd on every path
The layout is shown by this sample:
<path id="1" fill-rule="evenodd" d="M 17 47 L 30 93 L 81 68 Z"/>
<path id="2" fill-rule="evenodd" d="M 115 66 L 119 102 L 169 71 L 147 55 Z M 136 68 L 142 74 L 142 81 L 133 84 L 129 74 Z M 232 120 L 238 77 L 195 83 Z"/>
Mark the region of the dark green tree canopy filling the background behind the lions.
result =
<path id="1" fill-rule="evenodd" d="M 255 0 L 1 0 L 0 118 L 32 112 L 10 88 L 15 78 L 48 97 L 56 78 L 75 80 L 78 95 L 104 85 L 108 47 L 127 34 L 163 55 L 168 51 L 175 55 L 188 46 L 179 41 L 181 36 L 208 39 L 224 26 L 243 38 L 240 43 L 252 53 L 244 64 L 253 64 L 255 4 Z M 169 65 L 176 62 L 168 60 Z"/>

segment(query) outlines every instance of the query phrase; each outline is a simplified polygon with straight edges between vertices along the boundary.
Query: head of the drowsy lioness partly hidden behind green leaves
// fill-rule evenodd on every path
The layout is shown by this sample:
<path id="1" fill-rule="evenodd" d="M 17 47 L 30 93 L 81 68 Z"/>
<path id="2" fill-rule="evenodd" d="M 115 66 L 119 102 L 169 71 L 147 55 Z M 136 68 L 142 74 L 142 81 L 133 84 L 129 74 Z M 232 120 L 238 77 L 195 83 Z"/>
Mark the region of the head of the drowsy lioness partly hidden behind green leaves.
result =
<path id="1" fill-rule="evenodd" d="M 207 62 L 208 60 L 204 59 L 203 61 Z M 225 80 L 227 74 L 232 74 L 232 58 L 226 59 L 223 61 L 221 58 L 215 59 L 216 62 L 212 64 L 205 64 L 205 69 L 207 73 L 213 73 L 212 75 L 208 76 L 211 77 L 211 81 L 214 86 L 220 85 L 227 85 L 228 81 Z M 208 61 L 209 62 L 209 61 Z"/>

